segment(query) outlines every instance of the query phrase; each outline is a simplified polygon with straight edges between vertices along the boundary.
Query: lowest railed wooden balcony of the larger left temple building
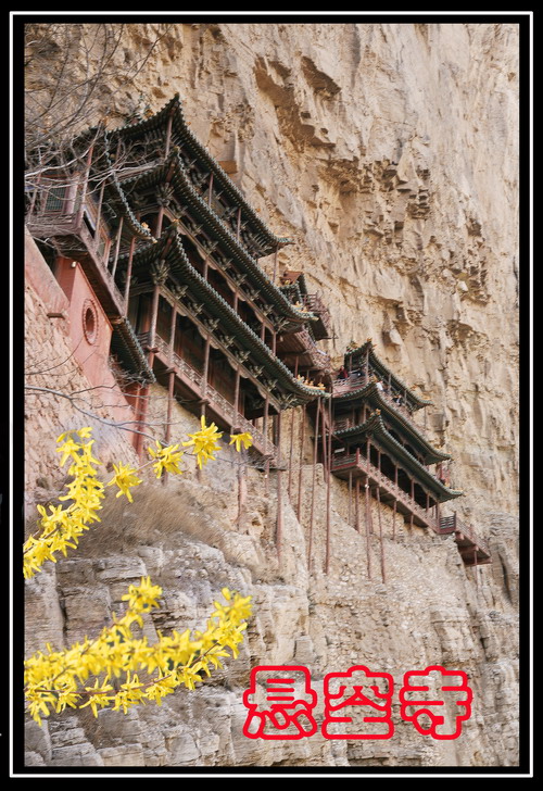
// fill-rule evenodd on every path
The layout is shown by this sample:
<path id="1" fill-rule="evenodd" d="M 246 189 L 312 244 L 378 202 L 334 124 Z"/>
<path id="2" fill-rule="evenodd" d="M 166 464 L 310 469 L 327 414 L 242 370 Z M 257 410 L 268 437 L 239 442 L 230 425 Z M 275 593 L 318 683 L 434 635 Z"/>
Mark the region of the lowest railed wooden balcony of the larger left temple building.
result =
<path id="1" fill-rule="evenodd" d="M 184 394 L 184 405 L 200 415 L 202 403 L 206 405 L 206 415 L 219 428 L 232 429 L 233 432 L 249 431 L 253 438 L 253 448 L 269 460 L 272 467 L 283 468 L 278 448 L 256 426 L 241 415 L 228 399 L 204 380 L 203 375 L 180 357 L 174 349 L 159 335 L 154 335 L 150 346 L 150 332 L 138 334 L 138 340 L 162 363 L 164 371 L 174 371 L 177 384 Z"/>

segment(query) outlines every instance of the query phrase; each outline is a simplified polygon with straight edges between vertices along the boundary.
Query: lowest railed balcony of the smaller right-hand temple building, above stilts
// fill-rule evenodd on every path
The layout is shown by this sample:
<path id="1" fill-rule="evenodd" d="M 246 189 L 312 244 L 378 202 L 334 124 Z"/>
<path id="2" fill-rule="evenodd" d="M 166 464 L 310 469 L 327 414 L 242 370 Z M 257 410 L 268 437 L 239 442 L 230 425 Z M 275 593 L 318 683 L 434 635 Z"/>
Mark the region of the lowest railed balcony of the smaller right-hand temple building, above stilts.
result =
<path id="1" fill-rule="evenodd" d="M 382 474 L 371 462 L 363 456 L 359 450 L 349 455 L 333 456 L 330 472 L 338 478 L 353 480 L 367 478 L 371 488 L 379 488 L 379 498 L 388 505 L 396 502 L 396 511 L 404 516 L 413 516 L 413 524 L 419 527 L 431 527 L 439 532 L 437 520 L 431 508 L 420 506 L 408 492 Z"/>

